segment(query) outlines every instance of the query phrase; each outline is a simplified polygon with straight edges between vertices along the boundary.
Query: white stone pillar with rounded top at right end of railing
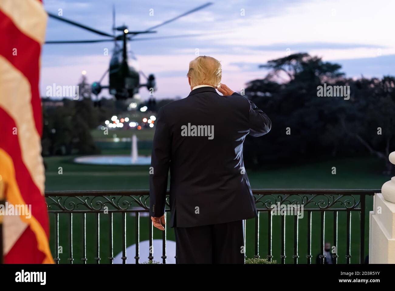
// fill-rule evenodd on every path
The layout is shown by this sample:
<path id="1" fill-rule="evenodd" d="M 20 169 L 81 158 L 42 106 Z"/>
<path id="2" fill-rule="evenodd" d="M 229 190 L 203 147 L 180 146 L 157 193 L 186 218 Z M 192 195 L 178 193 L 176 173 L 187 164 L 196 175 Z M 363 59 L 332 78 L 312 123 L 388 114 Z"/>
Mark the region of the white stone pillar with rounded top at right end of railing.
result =
<path id="1" fill-rule="evenodd" d="M 395 164 L 395 152 L 389 154 Z M 369 264 L 395 264 L 395 177 L 373 198 L 369 213 Z"/>

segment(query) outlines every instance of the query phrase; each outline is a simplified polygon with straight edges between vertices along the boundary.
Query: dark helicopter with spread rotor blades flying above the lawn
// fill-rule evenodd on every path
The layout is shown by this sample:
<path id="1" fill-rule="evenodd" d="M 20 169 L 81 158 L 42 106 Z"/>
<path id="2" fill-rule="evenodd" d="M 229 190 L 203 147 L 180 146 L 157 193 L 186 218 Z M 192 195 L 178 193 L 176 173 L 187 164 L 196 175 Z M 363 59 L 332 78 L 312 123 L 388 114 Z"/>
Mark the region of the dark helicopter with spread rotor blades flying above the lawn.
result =
<path id="1" fill-rule="evenodd" d="M 117 100 L 124 100 L 128 98 L 133 98 L 135 94 L 139 92 L 141 87 L 147 87 L 150 91 L 151 95 L 153 91 L 156 90 L 156 80 L 154 74 L 149 74 L 149 76 L 145 76 L 145 74 L 139 71 L 133 64 L 129 62 L 128 58 L 128 50 L 127 50 L 127 42 L 128 41 L 137 41 L 137 40 L 155 40 L 155 39 L 164 39 L 164 38 L 179 38 L 179 37 L 191 37 L 197 36 L 199 34 L 189 34 L 189 35 L 176 35 L 176 36 L 161 36 L 161 37 L 147 37 L 147 38 L 135 38 L 135 36 L 139 34 L 152 34 L 156 33 L 156 28 L 161 27 L 167 23 L 175 21 L 181 17 L 184 17 L 188 14 L 194 13 L 198 10 L 206 8 L 210 6 L 211 2 L 207 2 L 201 6 L 198 6 L 192 10 L 186 11 L 176 17 L 173 17 L 167 21 L 164 21 L 158 25 L 154 25 L 153 27 L 149 27 L 146 30 L 142 31 L 130 31 L 126 25 L 122 25 L 116 27 L 115 25 L 115 7 L 113 6 L 113 34 L 109 34 L 107 32 L 103 32 L 92 27 L 88 27 L 81 23 L 77 23 L 75 21 L 64 18 L 63 16 L 59 16 L 47 11 L 48 16 L 70 25 L 74 25 L 81 29 L 88 30 L 90 32 L 94 32 L 101 36 L 106 36 L 105 39 L 97 39 L 97 40 L 53 40 L 46 41 L 45 44 L 82 44 L 82 43 L 97 43 L 97 42 L 114 42 L 113 55 L 111 57 L 109 68 L 104 72 L 102 78 L 99 81 L 93 82 L 91 85 L 92 93 L 99 95 L 102 89 L 109 89 L 109 93 L 113 95 Z M 116 35 L 116 32 L 120 31 L 121 34 Z M 119 45 L 119 41 L 122 41 L 122 46 Z M 101 82 L 104 77 L 109 74 L 109 85 L 103 86 Z M 146 79 L 144 84 L 140 83 L 140 74 Z"/>

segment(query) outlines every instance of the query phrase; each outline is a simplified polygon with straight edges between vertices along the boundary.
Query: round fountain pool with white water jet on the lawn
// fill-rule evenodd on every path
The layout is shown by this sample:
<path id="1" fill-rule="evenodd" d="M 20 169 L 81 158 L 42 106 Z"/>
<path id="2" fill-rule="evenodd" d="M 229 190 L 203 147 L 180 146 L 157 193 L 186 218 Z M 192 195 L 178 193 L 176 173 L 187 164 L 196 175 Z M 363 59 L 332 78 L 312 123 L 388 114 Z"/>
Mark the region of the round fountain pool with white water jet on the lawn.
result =
<path id="1" fill-rule="evenodd" d="M 138 155 L 137 136 L 134 134 L 132 136 L 132 151 L 130 155 L 82 156 L 75 158 L 74 162 L 78 164 L 90 164 L 90 165 L 150 165 L 151 156 Z"/>

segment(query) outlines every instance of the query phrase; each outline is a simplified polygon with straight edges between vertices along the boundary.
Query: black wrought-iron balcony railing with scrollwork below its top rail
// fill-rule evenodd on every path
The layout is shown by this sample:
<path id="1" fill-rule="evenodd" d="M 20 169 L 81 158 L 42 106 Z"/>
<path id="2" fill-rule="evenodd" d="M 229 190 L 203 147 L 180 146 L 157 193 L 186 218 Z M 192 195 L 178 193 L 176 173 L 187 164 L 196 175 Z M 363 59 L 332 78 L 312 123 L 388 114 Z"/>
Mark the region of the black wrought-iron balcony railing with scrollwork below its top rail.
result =
<path id="1" fill-rule="evenodd" d="M 363 263 L 365 259 L 365 220 L 369 212 L 366 210 L 366 199 L 368 196 L 372 196 L 380 190 L 328 190 L 328 189 L 260 189 L 252 190 L 255 198 L 256 207 L 258 209 L 258 218 L 255 220 L 254 231 L 254 257 L 260 258 L 260 254 L 263 253 L 260 250 L 260 216 L 262 213 L 267 213 L 267 253 L 265 258 L 271 261 L 273 257 L 273 218 L 275 213 L 272 209 L 273 205 L 292 205 L 292 207 L 299 206 L 299 211 L 307 213 L 307 252 L 305 257 L 307 263 L 312 262 L 312 213 L 320 213 L 320 263 L 324 263 L 324 243 L 325 243 L 325 217 L 328 217 L 330 213 L 333 214 L 333 248 L 332 258 L 333 262 L 337 263 L 338 260 L 338 215 L 341 212 L 346 212 L 346 251 L 345 258 L 346 263 L 350 264 L 351 259 L 351 239 L 353 242 L 359 240 L 359 263 Z M 126 257 L 126 237 L 127 229 L 130 229 L 130 225 L 127 227 L 126 214 L 135 214 L 135 263 L 138 264 L 140 257 L 139 243 L 140 243 L 140 214 L 149 213 L 149 191 L 148 190 L 117 190 L 117 191 L 49 191 L 45 193 L 47 199 L 48 212 L 50 216 L 54 218 L 55 231 L 51 230 L 53 239 L 54 260 L 59 263 L 59 236 L 65 236 L 66 234 L 59 232 L 59 221 L 60 217 L 68 216 L 68 260 L 72 264 L 74 261 L 73 257 L 73 215 L 81 215 L 82 219 L 81 228 L 83 230 L 81 243 L 82 244 L 82 258 L 83 263 L 87 263 L 87 214 L 95 215 L 96 225 L 96 257 L 94 261 L 100 263 L 102 259 L 100 257 L 100 218 L 103 214 L 108 215 L 108 262 L 113 263 L 113 215 L 115 213 L 121 213 L 122 215 L 122 262 L 125 264 L 127 261 Z M 292 209 L 291 206 L 286 206 L 288 209 Z M 302 208 L 303 207 L 303 208 Z M 166 212 L 169 211 L 168 197 Z M 359 238 L 358 236 L 351 236 L 351 214 L 352 212 L 359 213 Z M 166 213 L 165 213 L 166 214 Z M 146 214 L 147 215 L 147 214 Z M 286 215 L 281 215 L 281 255 L 279 256 L 282 264 L 286 261 Z M 287 225 L 289 224 L 289 221 Z M 344 224 L 342 223 L 341 226 Z M 90 226 L 91 228 L 92 226 Z M 149 260 L 154 260 L 154 253 L 152 252 L 152 240 L 153 240 L 153 226 L 149 220 L 147 225 L 149 228 L 149 246 L 150 251 L 147 254 Z M 246 238 L 246 222 L 245 227 L 245 238 Z M 306 225 L 303 226 L 306 228 Z M 297 215 L 293 217 L 293 262 L 298 263 L 299 260 L 299 228 L 300 223 Z M 355 228 L 355 226 L 354 226 Z M 288 228 L 287 228 L 288 229 Z M 277 232 L 275 232 L 277 234 Z M 315 234 L 316 235 L 316 234 Z M 166 236 L 167 228 L 162 232 L 162 255 L 161 259 L 163 263 L 166 263 Z M 315 237 L 314 237 L 315 238 Z M 246 241 L 245 241 L 246 242 Z M 90 246 L 91 247 L 91 246 Z M 333 251 L 334 250 L 334 251 Z M 92 258 L 91 258 L 92 259 Z M 90 259 L 90 260 L 91 260 Z M 276 259 L 276 258 L 274 258 Z M 344 258 L 343 258 L 344 259 Z"/>

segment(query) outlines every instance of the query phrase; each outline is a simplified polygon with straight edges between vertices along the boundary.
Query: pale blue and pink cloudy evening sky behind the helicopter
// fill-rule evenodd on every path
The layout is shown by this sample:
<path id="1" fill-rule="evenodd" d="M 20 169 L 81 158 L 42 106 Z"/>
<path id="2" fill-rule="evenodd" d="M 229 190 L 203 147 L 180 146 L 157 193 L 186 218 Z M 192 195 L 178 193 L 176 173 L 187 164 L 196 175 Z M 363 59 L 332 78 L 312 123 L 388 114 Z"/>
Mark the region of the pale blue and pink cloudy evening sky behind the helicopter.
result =
<path id="1" fill-rule="evenodd" d="M 43 0 L 47 11 L 112 34 L 112 7 L 116 25 L 145 30 L 207 3 L 176 0 Z M 222 64 L 222 83 L 240 91 L 267 73 L 259 68 L 271 59 L 306 52 L 342 65 L 348 77 L 395 75 L 395 38 L 390 0 L 219 0 L 129 42 L 136 66 L 154 74 L 154 97 L 186 97 L 186 73 L 197 55 L 210 55 Z M 153 13 L 152 13 L 153 12 Z M 153 15 L 152 15 L 153 14 Z M 190 38 L 138 40 L 180 34 Z M 105 36 L 48 19 L 46 40 L 90 40 Z M 121 44 L 121 42 L 119 42 Z M 88 82 L 108 69 L 113 42 L 45 44 L 41 55 L 40 93 L 46 87 L 73 86 L 85 70 Z M 109 50 L 109 55 L 103 52 Z M 144 81 L 143 79 L 141 81 Z M 108 84 L 108 75 L 103 85 Z M 142 100 L 149 91 L 141 88 Z M 107 90 L 100 93 L 108 97 Z"/>

